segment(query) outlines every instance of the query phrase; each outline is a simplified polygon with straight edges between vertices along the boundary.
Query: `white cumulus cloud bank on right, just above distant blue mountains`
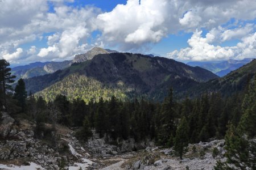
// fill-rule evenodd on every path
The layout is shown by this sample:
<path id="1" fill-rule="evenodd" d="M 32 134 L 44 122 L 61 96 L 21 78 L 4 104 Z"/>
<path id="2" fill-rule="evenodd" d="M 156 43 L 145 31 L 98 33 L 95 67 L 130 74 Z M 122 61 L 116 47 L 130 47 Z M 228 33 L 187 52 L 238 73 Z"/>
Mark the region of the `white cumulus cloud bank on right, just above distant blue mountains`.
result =
<path id="1" fill-rule="evenodd" d="M 207 61 L 221 59 L 243 59 L 255 57 L 256 33 L 252 33 L 242 38 L 236 46 L 213 45 L 211 36 L 205 38 L 201 36 L 202 31 L 193 33 L 188 40 L 188 48 L 174 50 L 167 53 L 167 57 L 178 60 Z"/>

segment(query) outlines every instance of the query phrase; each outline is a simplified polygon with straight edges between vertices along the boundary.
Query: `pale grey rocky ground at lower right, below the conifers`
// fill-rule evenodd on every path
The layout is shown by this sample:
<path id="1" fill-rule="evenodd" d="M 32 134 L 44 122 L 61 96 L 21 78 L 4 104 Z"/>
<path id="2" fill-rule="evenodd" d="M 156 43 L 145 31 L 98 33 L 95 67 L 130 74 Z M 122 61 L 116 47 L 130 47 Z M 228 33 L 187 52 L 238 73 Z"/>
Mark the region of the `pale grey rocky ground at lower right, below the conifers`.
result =
<path id="1" fill-rule="evenodd" d="M 224 140 L 215 140 L 212 142 L 200 142 L 188 146 L 188 152 L 184 154 L 184 159 L 180 160 L 174 156 L 173 148 L 160 149 L 158 147 L 147 147 L 146 150 L 131 152 L 119 155 L 119 163 L 110 165 L 104 169 L 204 169 L 211 170 L 217 160 L 224 160 L 225 151 L 223 149 Z M 212 150 L 217 147 L 219 152 L 216 158 L 212 156 Z M 202 154 L 201 151 L 204 151 Z M 115 159 L 118 157 L 115 156 Z M 111 159 L 110 159 L 111 160 Z"/>

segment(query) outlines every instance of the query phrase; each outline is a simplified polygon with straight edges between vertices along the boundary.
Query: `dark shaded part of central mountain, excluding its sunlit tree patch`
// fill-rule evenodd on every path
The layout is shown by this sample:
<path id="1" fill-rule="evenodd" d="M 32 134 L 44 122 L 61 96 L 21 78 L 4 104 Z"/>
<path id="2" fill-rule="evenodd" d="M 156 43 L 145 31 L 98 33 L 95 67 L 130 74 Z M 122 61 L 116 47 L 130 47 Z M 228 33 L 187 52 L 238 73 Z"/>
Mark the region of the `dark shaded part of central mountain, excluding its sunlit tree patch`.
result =
<path id="1" fill-rule="evenodd" d="M 200 67 L 191 67 L 164 57 L 109 53 L 98 54 L 82 63 L 73 63 L 71 67 L 53 74 L 27 79 L 27 91 L 41 91 L 75 73 L 95 79 L 108 88 L 117 88 L 118 83 L 123 83 L 126 90 L 122 92 L 130 89 L 134 95 L 147 95 L 156 100 L 162 100 L 171 86 L 175 91 L 184 91 L 189 86 L 218 77 Z M 75 82 L 71 80 L 70 83 Z M 57 87 L 54 88 L 58 91 Z M 47 91 L 45 93 L 47 94 Z"/>

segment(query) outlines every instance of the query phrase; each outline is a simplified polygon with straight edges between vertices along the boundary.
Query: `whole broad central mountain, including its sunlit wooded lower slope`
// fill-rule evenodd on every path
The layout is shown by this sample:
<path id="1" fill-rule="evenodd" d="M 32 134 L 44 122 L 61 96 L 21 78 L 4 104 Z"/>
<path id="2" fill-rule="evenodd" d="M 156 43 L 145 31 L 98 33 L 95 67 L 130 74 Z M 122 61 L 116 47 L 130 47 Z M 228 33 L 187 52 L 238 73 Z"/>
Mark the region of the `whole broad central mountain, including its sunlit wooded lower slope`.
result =
<path id="1" fill-rule="evenodd" d="M 73 63 L 53 74 L 27 79 L 26 87 L 27 91 L 38 92 L 46 99 L 53 99 L 57 94 L 72 99 L 84 96 L 109 99 L 113 92 L 117 92 L 121 98 L 146 95 L 162 100 L 170 87 L 181 92 L 214 78 L 218 76 L 208 70 L 173 59 L 108 53 L 98 54 L 86 62 Z M 102 91 L 102 87 L 105 90 Z"/>

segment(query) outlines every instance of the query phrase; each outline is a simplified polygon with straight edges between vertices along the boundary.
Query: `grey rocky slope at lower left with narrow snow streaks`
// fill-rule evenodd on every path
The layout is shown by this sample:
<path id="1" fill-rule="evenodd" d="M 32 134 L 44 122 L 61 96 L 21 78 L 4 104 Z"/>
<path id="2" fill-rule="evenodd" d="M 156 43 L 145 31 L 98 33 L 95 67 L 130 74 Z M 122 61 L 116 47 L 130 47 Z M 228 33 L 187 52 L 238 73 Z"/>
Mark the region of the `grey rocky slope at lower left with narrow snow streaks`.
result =
<path id="1" fill-rule="evenodd" d="M 35 125 L 32 122 L 26 120 L 18 122 L 16 124 L 8 113 L 2 112 L 0 160 L 13 162 L 26 160 L 26 163 L 41 165 L 44 169 L 60 169 L 60 167 L 72 167 L 71 169 L 83 167 L 84 169 L 90 165 L 98 167 L 97 164 L 92 164 L 86 159 L 89 154 L 74 137 L 72 130 L 68 131 L 66 128 L 62 134 L 61 130 L 57 131 L 60 139 L 56 141 L 56 146 L 53 146 L 34 137 Z M 68 133 L 66 133 L 67 131 Z M 24 169 L 26 168 L 24 167 Z"/>

